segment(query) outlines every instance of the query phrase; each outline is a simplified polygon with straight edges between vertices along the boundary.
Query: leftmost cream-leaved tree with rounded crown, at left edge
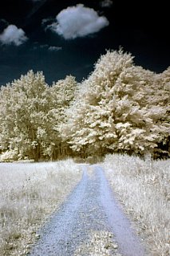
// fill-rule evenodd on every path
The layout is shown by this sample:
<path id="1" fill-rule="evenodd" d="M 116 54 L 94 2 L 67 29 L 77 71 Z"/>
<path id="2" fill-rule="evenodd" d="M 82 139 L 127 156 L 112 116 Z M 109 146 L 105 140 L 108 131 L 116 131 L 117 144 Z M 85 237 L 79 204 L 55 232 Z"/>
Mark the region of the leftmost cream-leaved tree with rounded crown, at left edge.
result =
<path id="1" fill-rule="evenodd" d="M 34 74 L 34 71 L 1 88 L 2 151 L 13 150 L 20 158 L 38 161 L 46 134 L 49 108 L 46 92 L 44 75 L 42 72 Z"/>

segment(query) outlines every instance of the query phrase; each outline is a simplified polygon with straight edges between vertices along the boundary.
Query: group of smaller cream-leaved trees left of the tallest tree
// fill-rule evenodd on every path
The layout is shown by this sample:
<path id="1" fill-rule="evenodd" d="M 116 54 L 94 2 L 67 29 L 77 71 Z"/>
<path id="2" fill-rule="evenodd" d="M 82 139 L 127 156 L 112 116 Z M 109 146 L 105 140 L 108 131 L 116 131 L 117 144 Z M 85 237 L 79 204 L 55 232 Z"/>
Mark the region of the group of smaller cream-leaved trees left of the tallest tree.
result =
<path id="1" fill-rule="evenodd" d="M 73 82 L 72 77 L 66 77 L 53 87 L 45 83 L 42 72 L 28 71 L 20 79 L 1 88 L 0 113 L 0 144 L 2 152 L 17 152 L 19 158 L 53 157 L 56 144 L 61 143 L 54 127 L 61 122 L 62 110 L 73 98 L 70 86 L 69 94 L 64 100 L 56 95 L 59 91 L 67 91 Z M 66 87 L 65 87 L 66 84 Z M 65 87 L 65 89 L 64 89 Z M 53 96 L 52 96 L 53 95 Z M 60 93 L 61 95 L 61 93 Z M 59 99 L 60 98 L 60 99 Z M 53 115 L 57 113 L 57 115 Z M 11 152 L 11 153 L 10 153 Z M 3 158 L 3 157 L 2 157 Z M 15 154 L 16 158 L 16 154 Z"/>

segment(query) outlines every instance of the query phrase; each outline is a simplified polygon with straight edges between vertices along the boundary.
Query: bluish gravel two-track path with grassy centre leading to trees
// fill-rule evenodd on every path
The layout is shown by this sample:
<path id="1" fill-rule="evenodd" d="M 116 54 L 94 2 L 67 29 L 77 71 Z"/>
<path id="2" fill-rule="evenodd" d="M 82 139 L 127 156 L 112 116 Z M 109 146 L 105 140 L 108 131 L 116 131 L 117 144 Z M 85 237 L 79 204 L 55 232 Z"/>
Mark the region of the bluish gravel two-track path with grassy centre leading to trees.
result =
<path id="1" fill-rule="evenodd" d="M 81 182 L 40 231 L 29 255 L 145 256 L 144 246 L 114 200 L 101 167 L 81 167 Z"/>

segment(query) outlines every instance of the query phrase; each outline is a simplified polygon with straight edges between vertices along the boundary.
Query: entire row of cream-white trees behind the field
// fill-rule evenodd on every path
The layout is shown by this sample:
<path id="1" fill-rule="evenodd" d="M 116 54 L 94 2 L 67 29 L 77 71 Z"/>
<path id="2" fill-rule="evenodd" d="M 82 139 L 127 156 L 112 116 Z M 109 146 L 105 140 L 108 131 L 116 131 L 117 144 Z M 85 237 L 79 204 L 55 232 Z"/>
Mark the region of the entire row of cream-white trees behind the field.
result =
<path id="1" fill-rule="evenodd" d="M 169 156 L 170 67 L 136 66 L 127 52 L 107 51 L 87 79 L 45 83 L 30 70 L 0 91 L 2 160 L 56 160 L 125 152 Z"/>

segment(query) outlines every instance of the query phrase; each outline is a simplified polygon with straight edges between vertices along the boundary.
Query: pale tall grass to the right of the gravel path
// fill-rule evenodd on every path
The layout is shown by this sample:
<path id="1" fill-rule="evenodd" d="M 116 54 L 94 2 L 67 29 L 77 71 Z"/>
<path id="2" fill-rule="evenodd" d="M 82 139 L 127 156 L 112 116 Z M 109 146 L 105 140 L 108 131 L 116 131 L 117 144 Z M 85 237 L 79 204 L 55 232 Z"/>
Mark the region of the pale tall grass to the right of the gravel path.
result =
<path id="1" fill-rule="evenodd" d="M 109 154 L 101 164 L 150 256 L 170 255 L 170 160 Z"/>

